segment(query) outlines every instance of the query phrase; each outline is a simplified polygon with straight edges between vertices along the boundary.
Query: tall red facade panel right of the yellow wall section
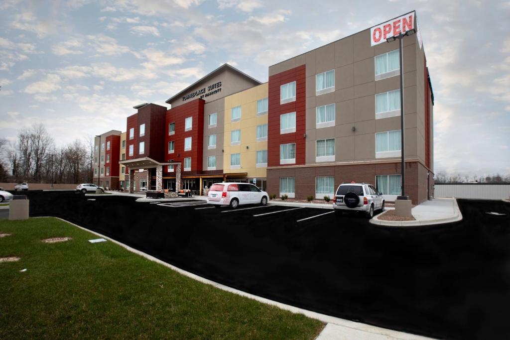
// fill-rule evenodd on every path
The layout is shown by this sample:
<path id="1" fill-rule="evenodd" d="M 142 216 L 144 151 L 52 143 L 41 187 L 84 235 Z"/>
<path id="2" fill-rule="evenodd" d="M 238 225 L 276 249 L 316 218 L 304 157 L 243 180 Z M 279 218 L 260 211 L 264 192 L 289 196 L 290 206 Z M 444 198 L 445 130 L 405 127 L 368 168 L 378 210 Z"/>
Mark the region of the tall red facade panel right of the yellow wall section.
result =
<path id="1" fill-rule="evenodd" d="M 296 82 L 296 100 L 281 105 L 280 86 L 294 81 Z M 305 163 L 306 140 L 303 137 L 306 124 L 305 82 L 305 65 L 269 77 L 267 165 L 270 167 L 280 165 L 280 145 L 287 143 L 296 143 L 296 165 Z M 296 132 L 281 135 L 280 116 L 290 112 L 296 112 Z"/>

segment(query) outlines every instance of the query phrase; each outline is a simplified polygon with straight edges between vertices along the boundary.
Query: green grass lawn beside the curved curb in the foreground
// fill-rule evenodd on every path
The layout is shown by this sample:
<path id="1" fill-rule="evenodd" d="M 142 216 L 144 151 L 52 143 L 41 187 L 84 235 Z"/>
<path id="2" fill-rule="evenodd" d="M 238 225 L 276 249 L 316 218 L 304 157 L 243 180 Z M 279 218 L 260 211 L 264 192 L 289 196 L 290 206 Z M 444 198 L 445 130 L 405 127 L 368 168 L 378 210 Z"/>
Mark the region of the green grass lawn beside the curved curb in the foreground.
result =
<path id="1" fill-rule="evenodd" d="M 0 220 L 0 338 L 313 339 L 324 324 L 200 283 L 54 218 Z M 64 243 L 42 239 L 72 237 Z M 26 272 L 19 270 L 27 268 Z"/>

